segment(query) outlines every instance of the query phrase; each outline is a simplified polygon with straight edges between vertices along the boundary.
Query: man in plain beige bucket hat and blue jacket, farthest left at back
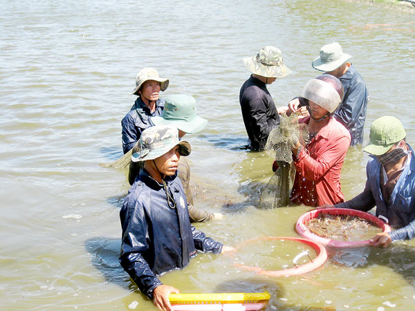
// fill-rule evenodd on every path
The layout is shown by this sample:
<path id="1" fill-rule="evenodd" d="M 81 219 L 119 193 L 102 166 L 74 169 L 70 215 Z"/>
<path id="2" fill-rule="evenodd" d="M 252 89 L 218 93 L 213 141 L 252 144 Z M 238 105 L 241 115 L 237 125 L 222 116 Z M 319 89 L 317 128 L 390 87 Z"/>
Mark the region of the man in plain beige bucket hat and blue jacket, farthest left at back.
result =
<path id="1" fill-rule="evenodd" d="M 138 95 L 129 113 L 121 121 L 122 151 L 127 153 L 140 139 L 141 132 L 151 123 L 150 117 L 163 113 L 165 101 L 159 97 L 160 91 L 169 86 L 169 79 L 162 78 L 154 68 L 143 68 L 136 77 L 136 87 L 130 94 Z"/>

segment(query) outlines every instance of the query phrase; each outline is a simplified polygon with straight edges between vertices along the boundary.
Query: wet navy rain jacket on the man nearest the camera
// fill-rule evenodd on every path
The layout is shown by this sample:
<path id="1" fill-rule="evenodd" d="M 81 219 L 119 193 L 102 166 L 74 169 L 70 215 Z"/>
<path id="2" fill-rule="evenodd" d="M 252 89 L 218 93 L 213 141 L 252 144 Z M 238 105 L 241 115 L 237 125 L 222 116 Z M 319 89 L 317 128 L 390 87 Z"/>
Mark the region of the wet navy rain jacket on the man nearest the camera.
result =
<path id="1" fill-rule="evenodd" d="M 163 185 L 142 169 L 120 211 L 120 264 L 150 299 L 162 285 L 158 274 L 185 267 L 196 249 L 219 254 L 223 246 L 190 225 L 180 180 L 170 176 L 166 183 L 176 207 L 169 207 Z"/>

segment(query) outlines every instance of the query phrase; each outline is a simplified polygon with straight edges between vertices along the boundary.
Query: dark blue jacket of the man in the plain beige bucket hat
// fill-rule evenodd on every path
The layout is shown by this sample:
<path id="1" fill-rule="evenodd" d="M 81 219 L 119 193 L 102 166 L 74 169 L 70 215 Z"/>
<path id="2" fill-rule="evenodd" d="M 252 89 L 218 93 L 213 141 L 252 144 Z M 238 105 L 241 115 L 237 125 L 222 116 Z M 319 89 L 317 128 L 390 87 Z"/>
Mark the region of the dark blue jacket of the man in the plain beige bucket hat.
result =
<path id="1" fill-rule="evenodd" d="M 150 109 L 137 97 L 131 110 L 122 118 L 122 151 L 124 154 L 134 147 L 141 136 L 141 132 L 147 127 L 154 126 L 151 117 L 163 115 L 165 100 L 156 101 L 156 110 L 151 113 Z"/>

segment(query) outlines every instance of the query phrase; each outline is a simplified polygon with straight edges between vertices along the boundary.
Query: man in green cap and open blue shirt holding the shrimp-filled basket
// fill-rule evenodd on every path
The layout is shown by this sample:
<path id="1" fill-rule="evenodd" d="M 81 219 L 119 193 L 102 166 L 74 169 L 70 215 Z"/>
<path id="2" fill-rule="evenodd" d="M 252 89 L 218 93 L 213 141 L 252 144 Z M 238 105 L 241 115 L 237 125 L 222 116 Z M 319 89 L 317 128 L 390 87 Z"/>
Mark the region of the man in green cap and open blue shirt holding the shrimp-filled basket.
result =
<path id="1" fill-rule="evenodd" d="M 347 202 L 334 205 L 361 211 L 376 206 L 376 216 L 397 229 L 377 234 L 371 240 L 374 246 L 387 247 L 392 241 L 415 237 L 415 158 L 414 149 L 405 137 L 405 129 L 396 117 L 375 120 L 370 127 L 369 144 L 363 149 L 371 155 L 365 190 Z"/>

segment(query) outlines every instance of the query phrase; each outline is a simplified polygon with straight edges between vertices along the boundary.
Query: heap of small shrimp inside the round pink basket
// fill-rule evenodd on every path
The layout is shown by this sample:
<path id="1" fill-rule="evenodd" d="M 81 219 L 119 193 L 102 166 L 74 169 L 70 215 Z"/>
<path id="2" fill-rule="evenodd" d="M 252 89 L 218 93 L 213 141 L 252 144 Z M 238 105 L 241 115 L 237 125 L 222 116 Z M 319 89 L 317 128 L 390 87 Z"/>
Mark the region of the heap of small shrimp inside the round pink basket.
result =
<path id="1" fill-rule="evenodd" d="M 308 220 L 306 226 L 313 234 L 334 241 L 364 241 L 382 232 L 369 220 L 351 215 L 320 214 Z"/>

